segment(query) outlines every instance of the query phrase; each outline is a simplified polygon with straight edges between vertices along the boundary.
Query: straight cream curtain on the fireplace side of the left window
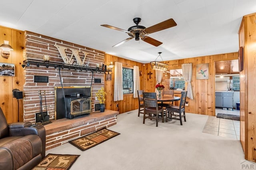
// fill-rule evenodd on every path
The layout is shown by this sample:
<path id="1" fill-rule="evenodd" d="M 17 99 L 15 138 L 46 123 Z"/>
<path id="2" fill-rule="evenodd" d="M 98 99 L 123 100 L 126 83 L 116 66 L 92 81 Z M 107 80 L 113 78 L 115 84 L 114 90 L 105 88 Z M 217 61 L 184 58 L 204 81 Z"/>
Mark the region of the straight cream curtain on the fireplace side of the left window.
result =
<path id="1" fill-rule="evenodd" d="M 123 65 L 115 62 L 114 67 L 114 101 L 123 100 Z"/>

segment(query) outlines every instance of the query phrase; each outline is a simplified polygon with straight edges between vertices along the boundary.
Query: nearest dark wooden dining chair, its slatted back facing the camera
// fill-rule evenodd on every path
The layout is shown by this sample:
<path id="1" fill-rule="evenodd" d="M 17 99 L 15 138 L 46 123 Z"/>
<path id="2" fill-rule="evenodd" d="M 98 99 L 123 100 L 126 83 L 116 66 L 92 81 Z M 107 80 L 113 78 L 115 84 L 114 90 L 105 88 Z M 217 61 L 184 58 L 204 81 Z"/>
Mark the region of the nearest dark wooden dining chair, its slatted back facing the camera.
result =
<path id="1" fill-rule="evenodd" d="M 158 127 L 158 121 L 160 121 L 159 114 L 161 113 L 162 122 L 164 122 L 164 109 L 158 106 L 156 93 L 143 92 L 144 113 L 143 124 L 145 119 L 156 120 L 156 127 Z M 146 115 L 148 114 L 148 115 Z"/>

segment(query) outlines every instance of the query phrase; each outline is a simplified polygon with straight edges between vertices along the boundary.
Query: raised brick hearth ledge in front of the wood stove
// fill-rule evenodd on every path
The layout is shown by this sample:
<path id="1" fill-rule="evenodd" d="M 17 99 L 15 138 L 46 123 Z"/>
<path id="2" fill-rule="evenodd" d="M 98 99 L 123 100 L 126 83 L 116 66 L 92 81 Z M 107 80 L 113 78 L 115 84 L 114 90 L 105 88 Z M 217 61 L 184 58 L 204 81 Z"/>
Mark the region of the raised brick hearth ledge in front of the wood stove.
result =
<path id="1" fill-rule="evenodd" d="M 70 140 L 116 125 L 117 111 L 96 111 L 75 119 L 58 119 L 45 125 L 46 150 L 60 146 Z"/>

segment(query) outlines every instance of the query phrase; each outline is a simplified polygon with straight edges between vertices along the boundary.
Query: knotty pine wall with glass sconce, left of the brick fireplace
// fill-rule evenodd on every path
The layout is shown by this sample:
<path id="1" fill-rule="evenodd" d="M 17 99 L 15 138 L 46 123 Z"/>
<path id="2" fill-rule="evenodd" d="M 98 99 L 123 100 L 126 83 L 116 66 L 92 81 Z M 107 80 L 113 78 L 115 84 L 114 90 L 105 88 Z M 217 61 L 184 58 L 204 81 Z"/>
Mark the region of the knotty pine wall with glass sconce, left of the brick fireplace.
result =
<path id="1" fill-rule="evenodd" d="M 10 52 L 10 57 L 3 58 L 0 56 L 1 63 L 15 64 L 15 77 L 0 76 L 0 107 L 8 123 L 18 121 L 18 102 L 19 102 L 19 121 L 23 121 L 23 99 L 17 100 L 12 97 L 12 90 L 19 89 L 23 91 L 24 71 L 21 67 L 23 62 L 24 49 L 24 32 L 0 26 L 0 45 L 4 40 L 9 41 L 9 44 L 14 49 Z"/>

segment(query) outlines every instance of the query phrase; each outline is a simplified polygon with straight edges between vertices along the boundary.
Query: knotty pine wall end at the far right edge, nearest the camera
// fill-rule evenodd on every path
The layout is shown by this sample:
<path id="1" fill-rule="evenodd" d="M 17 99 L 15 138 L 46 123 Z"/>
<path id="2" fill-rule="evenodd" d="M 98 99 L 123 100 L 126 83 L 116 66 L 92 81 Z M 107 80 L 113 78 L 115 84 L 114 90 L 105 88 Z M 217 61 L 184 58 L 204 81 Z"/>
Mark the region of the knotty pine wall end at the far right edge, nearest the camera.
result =
<path id="1" fill-rule="evenodd" d="M 245 159 L 256 162 L 256 14 L 244 16 L 239 45 L 244 47 L 244 70 L 240 72 L 240 141 Z"/>

